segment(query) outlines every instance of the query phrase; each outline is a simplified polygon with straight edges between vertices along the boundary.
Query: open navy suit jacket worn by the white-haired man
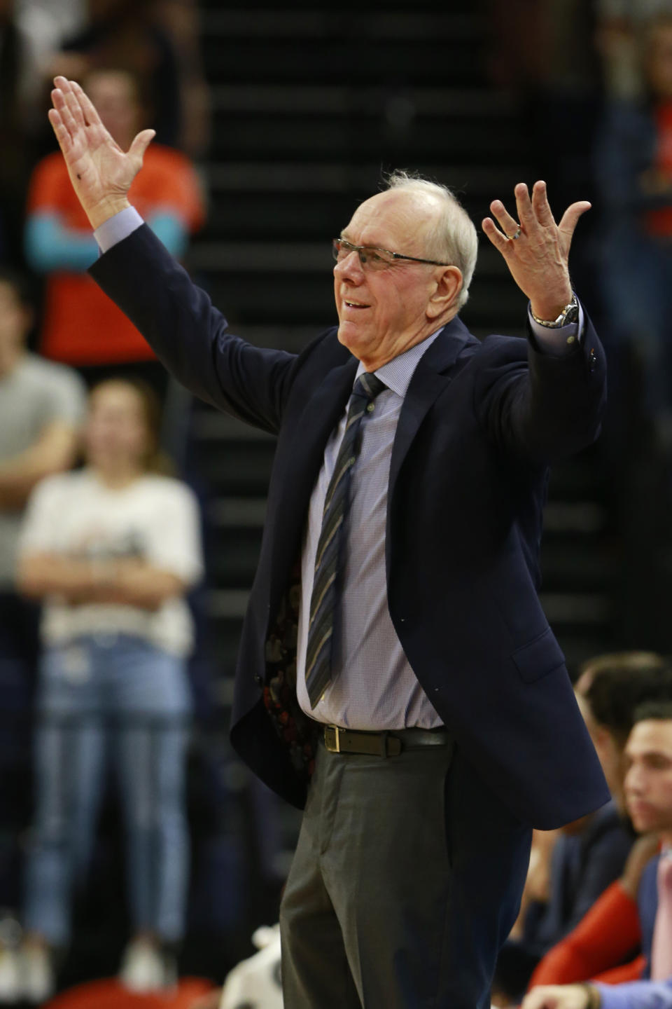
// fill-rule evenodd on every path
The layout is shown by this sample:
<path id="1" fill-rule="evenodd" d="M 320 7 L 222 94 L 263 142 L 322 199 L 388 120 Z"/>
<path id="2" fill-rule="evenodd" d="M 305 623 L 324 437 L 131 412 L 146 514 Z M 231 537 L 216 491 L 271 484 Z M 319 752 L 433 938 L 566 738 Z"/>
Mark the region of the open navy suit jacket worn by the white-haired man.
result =
<path id="1" fill-rule="evenodd" d="M 301 806 L 305 782 L 261 699 L 264 645 L 358 362 L 335 328 L 298 355 L 232 335 L 147 226 L 91 273 L 187 388 L 277 435 L 231 738 L 271 788 Z M 463 757 L 520 819 L 542 828 L 610 798 L 537 596 L 547 464 L 596 437 L 604 388 L 602 348 L 587 321 L 581 343 L 558 358 L 540 353 L 531 335 L 481 342 L 455 318 L 413 375 L 392 453 L 386 566 L 396 632 Z"/>

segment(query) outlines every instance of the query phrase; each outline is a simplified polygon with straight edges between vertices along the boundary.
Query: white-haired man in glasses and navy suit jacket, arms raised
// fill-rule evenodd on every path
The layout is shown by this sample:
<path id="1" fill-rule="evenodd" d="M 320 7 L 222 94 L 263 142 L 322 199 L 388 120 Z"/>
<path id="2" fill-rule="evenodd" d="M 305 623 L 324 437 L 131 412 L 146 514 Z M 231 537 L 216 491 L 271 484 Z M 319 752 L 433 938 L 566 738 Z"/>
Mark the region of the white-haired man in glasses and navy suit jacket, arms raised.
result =
<path id="1" fill-rule="evenodd" d="M 285 1004 L 483 1009 L 531 825 L 609 799 L 536 593 L 548 460 L 592 441 L 604 399 L 567 270 L 588 205 L 557 225 L 543 183 L 516 187 L 518 219 L 492 204 L 532 318 L 527 341 L 480 343 L 457 318 L 473 224 L 443 187 L 393 177 L 333 242 L 339 327 L 263 350 L 129 206 L 152 131 L 124 153 L 55 85 L 94 277 L 187 387 L 278 436 L 232 741 L 305 805 Z"/>

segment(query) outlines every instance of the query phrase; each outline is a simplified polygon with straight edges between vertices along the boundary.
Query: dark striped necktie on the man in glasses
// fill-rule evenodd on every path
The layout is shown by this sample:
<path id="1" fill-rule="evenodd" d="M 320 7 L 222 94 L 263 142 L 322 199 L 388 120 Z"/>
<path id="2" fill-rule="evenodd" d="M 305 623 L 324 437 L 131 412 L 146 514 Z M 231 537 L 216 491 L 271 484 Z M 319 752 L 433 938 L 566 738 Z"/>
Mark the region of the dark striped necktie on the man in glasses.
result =
<path id="1" fill-rule="evenodd" d="M 374 400 L 385 382 L 375 374 L 364 372 L 355 382 L 333 475 L 324 497 L 322 528 L 319 533 L 315 571 L 310 597 L 310 621 L 305 654 L 305 685 L 310 707 L 314 708 L 331 681 L 334 619 L 341 595 L 346 519 L 350 504 L 350 482 L 353 466 L 362 443 L 362 421 L 374 410 Z"/>

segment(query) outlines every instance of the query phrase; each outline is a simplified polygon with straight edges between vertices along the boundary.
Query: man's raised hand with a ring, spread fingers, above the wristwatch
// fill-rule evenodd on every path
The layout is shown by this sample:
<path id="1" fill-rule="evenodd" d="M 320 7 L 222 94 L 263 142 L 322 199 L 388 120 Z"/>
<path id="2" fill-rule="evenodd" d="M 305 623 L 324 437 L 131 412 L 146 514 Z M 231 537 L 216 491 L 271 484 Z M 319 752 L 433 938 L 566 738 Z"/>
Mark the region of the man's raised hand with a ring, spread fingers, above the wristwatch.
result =
<path id="1" fill-rule="evenodd" d="M 550 321 L 571 301 L 569 246 L 578 219 L 590 209 L 590 204 L 585 200 L 572 203 L 556 224 L 546 183 L 534 184 L 531 199 L 525 183 L 519 183 L 514 194 L 518 221 L 501 200 L 494 200 L 490 209 L 502 230 L 491 217 L 483 221 L 483 230 L 504 256 L 520 290 L 530 299 L 534 315 Z M 516 234 L 518 237 L 513 237 Z"/>

